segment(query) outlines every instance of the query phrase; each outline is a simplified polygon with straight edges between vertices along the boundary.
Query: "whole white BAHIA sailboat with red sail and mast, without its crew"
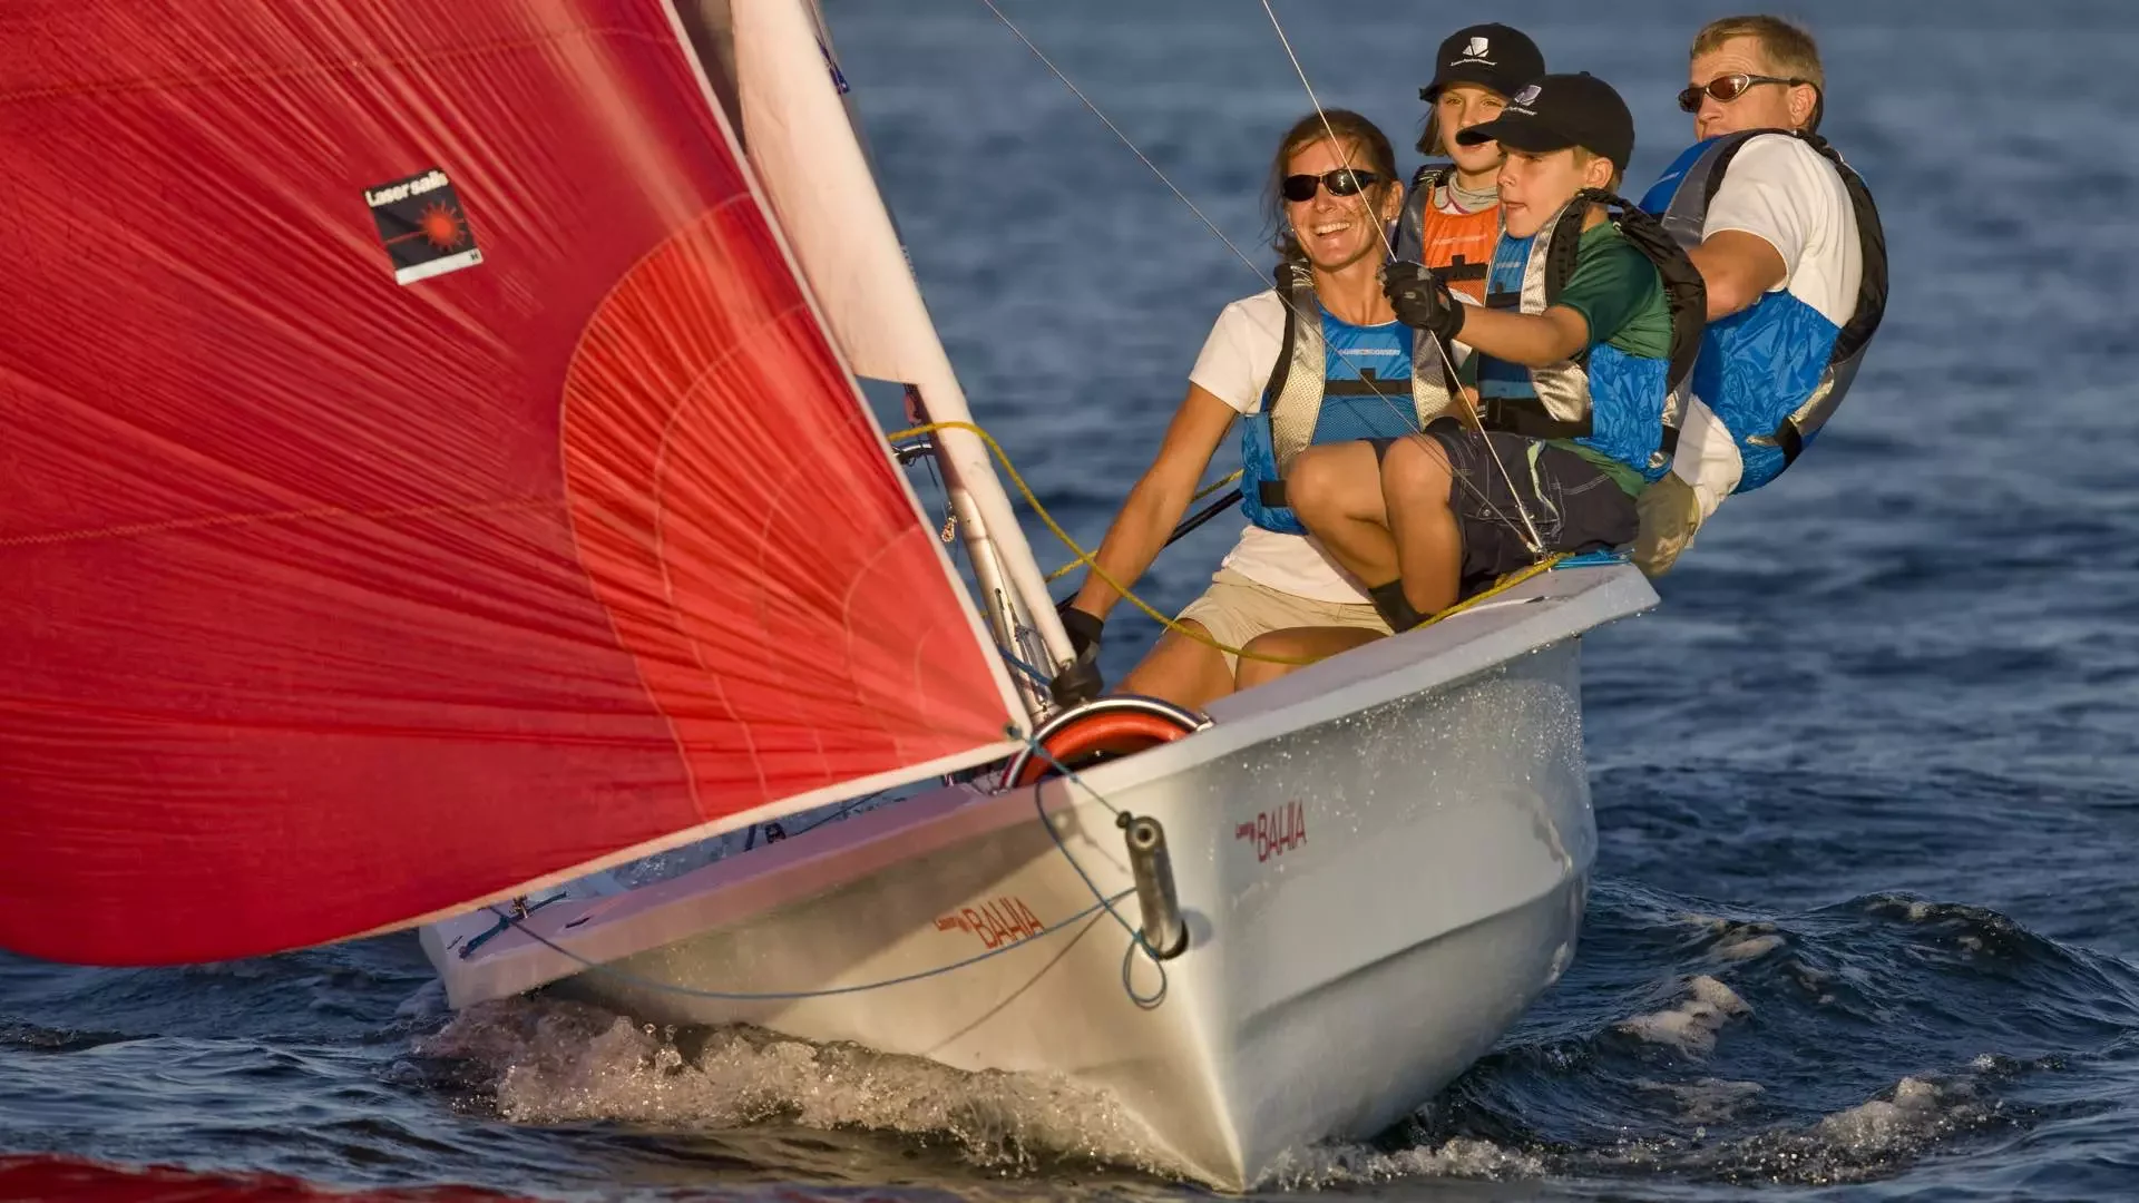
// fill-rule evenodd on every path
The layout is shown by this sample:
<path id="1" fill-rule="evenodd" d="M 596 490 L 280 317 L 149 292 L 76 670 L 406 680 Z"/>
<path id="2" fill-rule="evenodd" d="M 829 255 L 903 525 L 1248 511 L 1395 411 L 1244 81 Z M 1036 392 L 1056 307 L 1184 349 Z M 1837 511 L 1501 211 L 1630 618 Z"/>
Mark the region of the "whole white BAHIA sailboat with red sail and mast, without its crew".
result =
<path id="1" fill-rule="evenodd" d="M 809 0 L 24 0 L 0 45 L 49 47 L 0 86 L 0 946 L 417 927 L 456 1008 L 1055 1075 L 1232 1190 L 1574 955 L 1579 646 L 1647 582 L 1202 713 L 1014 670 L 1070 646 Z"/>

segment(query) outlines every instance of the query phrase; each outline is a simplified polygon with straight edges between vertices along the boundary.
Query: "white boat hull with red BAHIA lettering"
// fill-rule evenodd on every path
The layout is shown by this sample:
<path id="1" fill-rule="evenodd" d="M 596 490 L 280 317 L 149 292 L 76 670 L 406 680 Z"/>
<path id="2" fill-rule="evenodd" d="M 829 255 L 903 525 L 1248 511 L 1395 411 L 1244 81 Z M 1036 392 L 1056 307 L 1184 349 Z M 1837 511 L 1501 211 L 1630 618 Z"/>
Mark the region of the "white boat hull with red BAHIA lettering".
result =
<path id="1" fill-rule="evenodd" d="M 1061 1075 L 1140 1120 L 1153 1164 L 1249 1188 L 1431 1098 L 1568 965 L 1596 852 L 1576 636 L 1653 599 L 1626 567 L 1546 574 L 1084 773 L 1166 826 L 1189 948 L 1151 1006 L 1070 863 L 1123 893 L 1123 837 L 1070 781 L 1037 790 L 1061 848 L 1035 790 L 954 786 L 665 882 L 578 882 L 468 955 L 490 912 L 424 944 L 453 1006 L 563 983 L 646 1021 Z"/>

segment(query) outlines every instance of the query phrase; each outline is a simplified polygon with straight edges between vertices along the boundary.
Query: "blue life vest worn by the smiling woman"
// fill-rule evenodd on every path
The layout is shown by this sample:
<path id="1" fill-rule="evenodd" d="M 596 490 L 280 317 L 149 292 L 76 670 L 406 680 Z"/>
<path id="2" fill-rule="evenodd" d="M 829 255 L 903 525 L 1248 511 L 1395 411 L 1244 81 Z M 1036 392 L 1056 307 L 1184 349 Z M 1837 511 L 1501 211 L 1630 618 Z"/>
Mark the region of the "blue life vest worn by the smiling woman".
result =
<path id="1" fill-rule="evenodd" d="M 1241 424 L 1241 512 L 1266 531 L 1305 535 L 1286 505 L 1292 458 L 1313 443 L 1425 430 L 1448 409 L 1448 385 L 1440 355 L 1414 364 L 1410 325 L 1352 325 L 1324 310 L 1305 263 L 1279 263 L 1277 298 L 1286 338 L 1262 409 Z"/>

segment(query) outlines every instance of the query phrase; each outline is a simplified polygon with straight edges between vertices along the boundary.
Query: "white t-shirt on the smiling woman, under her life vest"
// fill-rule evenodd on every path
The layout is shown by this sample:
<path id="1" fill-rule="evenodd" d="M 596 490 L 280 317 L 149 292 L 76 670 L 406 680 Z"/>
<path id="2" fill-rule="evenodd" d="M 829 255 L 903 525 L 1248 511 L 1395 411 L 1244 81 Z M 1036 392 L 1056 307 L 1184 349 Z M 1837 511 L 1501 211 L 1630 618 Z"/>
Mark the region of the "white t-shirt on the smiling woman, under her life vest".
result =
<path id="1" fill-rule="evenodd" d="M 1236 300 L 1211 325 L 1211 338 L 1196 355 L 1189 383 L 1224 400 L 1243 417 L 1258 413 L 1262 411 L 1262 387 L 1271 383 L 1283 345 L 1286 304 L 1277 298 L 1277 289 Z M 1307 535 L 1264 531 L 1249 522 L 1241 531 L 1241 542 L 1226 552 L 1221 567 L 1294 597 L 1369 604 L 1365 587 L 1337 567 L 1322 544 Z"/>

